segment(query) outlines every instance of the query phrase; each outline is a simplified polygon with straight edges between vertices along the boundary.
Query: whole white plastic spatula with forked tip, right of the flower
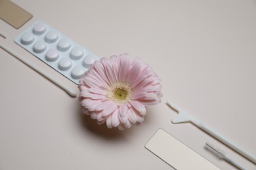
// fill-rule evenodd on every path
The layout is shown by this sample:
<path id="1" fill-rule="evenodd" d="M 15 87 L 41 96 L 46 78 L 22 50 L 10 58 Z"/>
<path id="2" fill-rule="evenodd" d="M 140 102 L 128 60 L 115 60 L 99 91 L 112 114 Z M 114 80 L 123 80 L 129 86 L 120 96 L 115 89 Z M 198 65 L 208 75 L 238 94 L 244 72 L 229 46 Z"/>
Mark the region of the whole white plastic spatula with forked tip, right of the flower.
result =
<path id="1" fill-rule="evenodd" d="M 173 122 L 173 124 L 191 122 L 192 124 L 194 124 L 195 126 L 200 127 L 200 129 L 203 129 L 203 131 L 206 131 L 207 133 L 209 133 L 210 135 L 212 135 L 213 137 L 215 137 L 216 139 L 218 139 L 222 143 L 226 144 L 227 146 L 229 146 L 233 150 L 236 150 L 236 152 L 240 153 L 242 156 L 245 156 L 245 158 L 253 161 L 253 163 L 256 163 L 256 157 L 253 156 L 252 154 L 249 154 L 248 152 L 246 152 L 245 150 L 243 150 L 242 148 L 240 148 L 236 144 L 232 143 L 231 141 L 228 141 L 228 139 L 219 135 L 219 133 L 217 133 L 216 131 L 213 131 L 213 129 L 211 129 L 210 127 L 205 126 L 202 122 L 200 122 L 199 120 L 197 120 L 196 118 L 194 118 L 190 114 L 184 112 L 179 107 L 173 105 L 173 103 L 171 103 L 170 101 L 167 101 L 167 105 L 169 105 L 171 108 L 177 110 L 177 112 L 179 113 L 179 114 L 177 114 L 177 116 L 175 116 L 171 120 L 171 122 Z"/>

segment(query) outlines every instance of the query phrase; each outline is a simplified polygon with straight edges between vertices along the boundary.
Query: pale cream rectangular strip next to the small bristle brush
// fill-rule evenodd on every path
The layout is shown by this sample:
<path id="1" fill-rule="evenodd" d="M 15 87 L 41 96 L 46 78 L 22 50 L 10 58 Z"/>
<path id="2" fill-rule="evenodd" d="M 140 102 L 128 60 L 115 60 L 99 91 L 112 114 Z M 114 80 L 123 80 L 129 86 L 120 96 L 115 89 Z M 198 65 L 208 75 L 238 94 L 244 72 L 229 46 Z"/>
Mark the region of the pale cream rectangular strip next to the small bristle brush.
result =
<path id="1" fill-rule="evenodd" d="M 219 169 L 163 129 L 158 129 L 145 147 L 175 169 Z"/>

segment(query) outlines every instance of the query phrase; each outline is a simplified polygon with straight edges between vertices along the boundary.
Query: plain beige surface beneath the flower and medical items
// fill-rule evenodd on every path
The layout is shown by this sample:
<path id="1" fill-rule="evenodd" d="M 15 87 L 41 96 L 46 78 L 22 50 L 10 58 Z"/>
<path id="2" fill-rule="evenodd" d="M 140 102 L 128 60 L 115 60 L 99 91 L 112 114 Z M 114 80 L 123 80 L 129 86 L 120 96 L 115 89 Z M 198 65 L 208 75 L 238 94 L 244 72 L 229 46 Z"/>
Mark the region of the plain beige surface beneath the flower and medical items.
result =
<path id="1" fill-rule="evenodd" d="M 18 1 L 33 14 L 20 29 L 0 20 L 0 42 L 53 75 L 13 39 L 43 20 L 99 56 L 128 52 L 149 63 L 162 103 L 126 131 L 97 126 L 74 99 L 0 50 L 0 169 L 172 169 L 144 144 L 163 128 L 221 169 L 234 169 L 203 145 L 255 164 L 192 124 L 171 124 L 168 99 L 256 154 L 256 1 Z M 185 163 L 185 162 L 184 162 Z"/>

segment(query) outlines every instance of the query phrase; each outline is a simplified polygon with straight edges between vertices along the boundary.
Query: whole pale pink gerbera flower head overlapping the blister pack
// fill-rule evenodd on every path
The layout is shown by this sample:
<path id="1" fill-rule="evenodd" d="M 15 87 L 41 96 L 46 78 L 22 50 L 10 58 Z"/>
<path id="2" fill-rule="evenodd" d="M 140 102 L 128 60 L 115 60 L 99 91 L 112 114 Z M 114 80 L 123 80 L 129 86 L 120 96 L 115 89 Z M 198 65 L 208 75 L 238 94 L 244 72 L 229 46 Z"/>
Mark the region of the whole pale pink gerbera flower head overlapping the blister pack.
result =
<path id="1" fill-rule="evenodd" d="M 139 58 L 131 60 L 128 54 L 101 58 L 79 80 L 79 101 L 98 124 L 123 130 L 143 122 L 144 106 L 160 103 L 160 81 Z"/>

